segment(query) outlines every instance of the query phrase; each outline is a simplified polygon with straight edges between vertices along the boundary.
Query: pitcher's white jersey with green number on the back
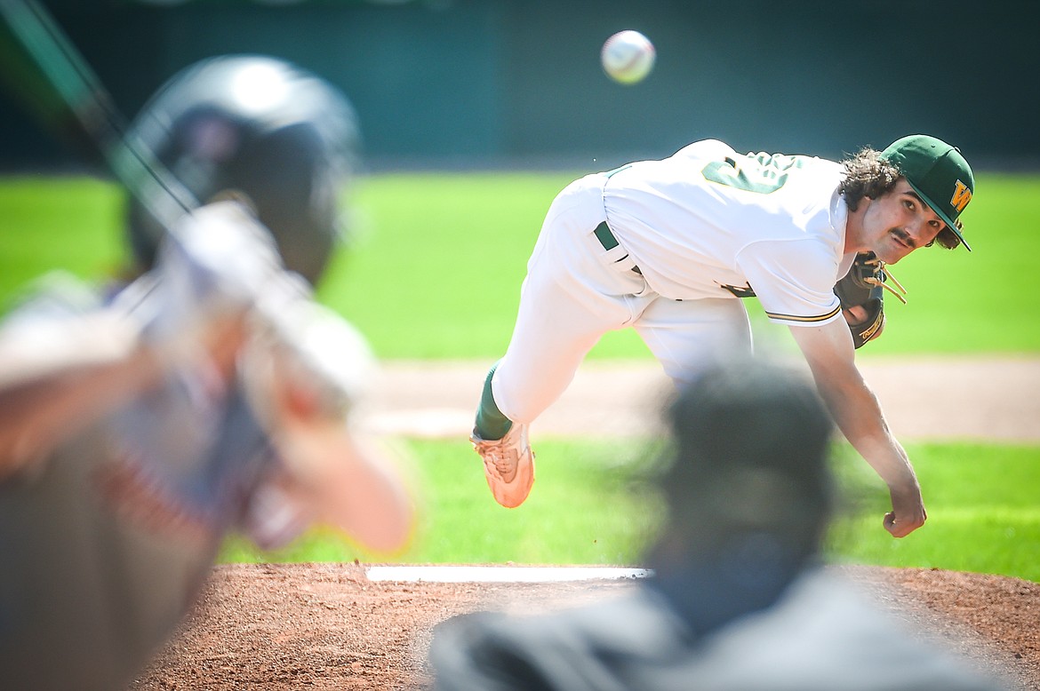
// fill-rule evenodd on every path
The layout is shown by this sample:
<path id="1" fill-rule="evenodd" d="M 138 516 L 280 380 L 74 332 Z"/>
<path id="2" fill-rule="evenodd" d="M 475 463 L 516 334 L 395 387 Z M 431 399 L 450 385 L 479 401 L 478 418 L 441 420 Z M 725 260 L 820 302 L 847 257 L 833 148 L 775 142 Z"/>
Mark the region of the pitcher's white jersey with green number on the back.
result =
<path id="1" fill-rule="evenodd" d="M 854 259 L 843 255 L 848 208 L 837 192 L 839 163 L 737 154 L 705 139 L 606 175 L 607 224 L 661 296 L 754 291 L 780 323 L 820 325 L 839 317 L 834 284 Z"/>

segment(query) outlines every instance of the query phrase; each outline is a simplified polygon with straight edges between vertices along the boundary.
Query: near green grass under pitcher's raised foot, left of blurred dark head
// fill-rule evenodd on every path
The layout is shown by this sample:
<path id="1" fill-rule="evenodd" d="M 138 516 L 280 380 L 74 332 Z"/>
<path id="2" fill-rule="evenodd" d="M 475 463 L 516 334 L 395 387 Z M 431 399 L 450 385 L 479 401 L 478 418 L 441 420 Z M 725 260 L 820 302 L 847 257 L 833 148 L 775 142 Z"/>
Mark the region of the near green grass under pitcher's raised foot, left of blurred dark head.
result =
<path id="1" fill-rule="evenodd" d="M 479 459 L 465 440 L 413 441 L 408 472 L 421 488 L 411 548 L 381 555 L 341 533 L 315 529 L 286 549 L 263 553 L 232 538 L 226 561 L 625 564 L 638 561 L 659 514 L 642 482 L 650 467 L 638 442 L 547 441 L 539 446 L 536 490 L 521 509 L 491 498 Z M 608 468 L 608 472 L 603 469 Z"/>

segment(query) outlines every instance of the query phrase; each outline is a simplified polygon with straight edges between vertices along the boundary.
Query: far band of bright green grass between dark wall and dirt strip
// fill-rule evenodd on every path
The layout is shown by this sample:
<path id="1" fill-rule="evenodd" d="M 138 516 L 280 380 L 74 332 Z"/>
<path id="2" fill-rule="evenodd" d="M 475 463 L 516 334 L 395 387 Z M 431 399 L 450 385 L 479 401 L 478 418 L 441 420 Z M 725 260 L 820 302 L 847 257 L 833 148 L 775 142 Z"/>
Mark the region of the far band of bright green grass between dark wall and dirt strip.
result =
<path id="1" fill-rule="evenodd" d="M 386 174 L 352 194 L 354 241 L 319 297 L 384 358 L 493 360 L 513 328 L 520 283 L 553 195 L 579 172 Z M 1040 352 L 1040 176 L 979 175 L 965 212 L 974 251 L 921 249 L 893 268 L 909 304 L 888 300 L 888 326 L 863 356 Z M 123 196 L 102 182 L 0 182 L 0 298 L 66 268 L 98 277 L 119 265 Z M 784 340 L 786 329 L 756 329 Z M 594 357 L 648 357 L 629 329 Z"/>

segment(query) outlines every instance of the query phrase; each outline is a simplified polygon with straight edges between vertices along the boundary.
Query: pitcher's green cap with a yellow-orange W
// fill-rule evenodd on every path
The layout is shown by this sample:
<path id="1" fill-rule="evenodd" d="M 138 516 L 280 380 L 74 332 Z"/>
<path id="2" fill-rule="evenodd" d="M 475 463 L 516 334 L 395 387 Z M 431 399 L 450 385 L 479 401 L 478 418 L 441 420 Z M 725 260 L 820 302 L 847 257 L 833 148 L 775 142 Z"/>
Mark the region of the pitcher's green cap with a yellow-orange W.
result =
<path id="1" fill-rule="evenodd" d="M 971 251 L 957 228 L 957 218 L 974 194 L 974 176 L 960 150 L 927 134 L 912 134 L 889 144 L 881 158 L 900 169 L 913 191 Z"/>

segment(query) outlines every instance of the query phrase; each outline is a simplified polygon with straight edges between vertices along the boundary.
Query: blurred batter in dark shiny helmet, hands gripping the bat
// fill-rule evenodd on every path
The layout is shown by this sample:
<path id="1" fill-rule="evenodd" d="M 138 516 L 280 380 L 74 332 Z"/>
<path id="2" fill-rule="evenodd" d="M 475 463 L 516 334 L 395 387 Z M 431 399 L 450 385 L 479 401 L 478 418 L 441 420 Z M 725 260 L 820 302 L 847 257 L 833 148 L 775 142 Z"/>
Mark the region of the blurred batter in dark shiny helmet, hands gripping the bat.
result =
<path id="1" fill-rule="evenodd" d="M 411 536 L 404 478 L 349 415 L 372 355 L 310 294 L 358 143 L 347 101 L 228 56 L 175 76 L 132 135 L 204 206 L 166 229 L 132 203 L 140 275 L 52 281 L 0 324 L 4 688 L 126 686 L 230 531 Z"/>

